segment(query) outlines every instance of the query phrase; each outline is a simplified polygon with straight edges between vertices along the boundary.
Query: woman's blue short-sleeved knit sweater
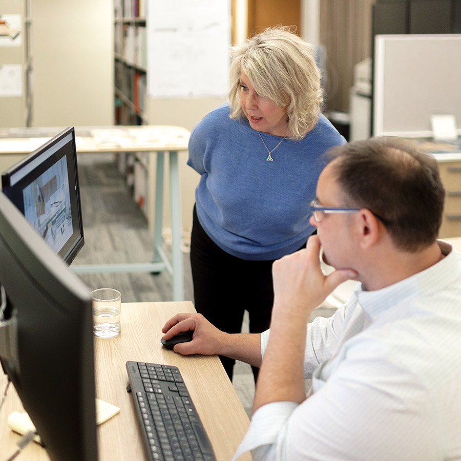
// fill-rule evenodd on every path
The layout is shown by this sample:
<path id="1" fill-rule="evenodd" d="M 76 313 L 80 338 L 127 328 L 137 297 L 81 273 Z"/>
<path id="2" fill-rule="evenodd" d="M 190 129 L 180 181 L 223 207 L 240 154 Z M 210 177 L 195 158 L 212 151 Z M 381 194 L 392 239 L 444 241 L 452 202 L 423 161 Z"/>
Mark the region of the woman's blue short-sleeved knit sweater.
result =
<path id="1" fill-rule="evenodd" d="M 261 133 L 269 150 L 282 138 Z M 247 260 L 278 259 L 301 247 L 313 232 L 310 201 L 326 164 L 322 154 L 344 143 L 321 116 L 301 141 L 285 139 L 268 156 L 246 119 L 229 118 L 228 104 L 194 128 L 189 159 L 200 175 L 197 215 L 205 232 L 227 253 Z"/>

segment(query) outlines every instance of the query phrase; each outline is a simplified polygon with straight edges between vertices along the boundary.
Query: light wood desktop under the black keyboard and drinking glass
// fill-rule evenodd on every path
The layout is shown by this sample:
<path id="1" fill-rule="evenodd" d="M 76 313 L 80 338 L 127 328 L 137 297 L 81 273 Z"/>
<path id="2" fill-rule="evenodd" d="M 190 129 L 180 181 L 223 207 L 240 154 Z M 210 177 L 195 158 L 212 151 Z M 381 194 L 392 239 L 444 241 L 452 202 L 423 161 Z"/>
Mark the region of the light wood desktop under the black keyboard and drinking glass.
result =
<path id="1" fill-rule="evenodd" d="M 133 397 L 125 389 L 128 384 L 125 363 L 128 360 L 179 367 L 218 461 L 229 461 L 242 441 L 249 426 L 248 416 L 219 359 L 202 355 L 183 357 L 161 347 L 161 327 L 177 312 L 195 312 L 195 309 L 191 302 L 123 303 L 120 336 L 95 338 L 96 396 L 120 407 L 119 414 L 98 426 L 100 461 L 147 459 Z M 6 376 L 2 373 L 2 393 L 5 385 Z M 20 438 L 6 424 L 7 416 L 13 411 L 24 410 L 15 389 L 10 386 L 0 412 L 2 458 L 14 453 Z M 46 451 L 36 443 L 26 447 L 18 459 L 49 461 Z M 250 460 L 251 456 L 247 454 L 241 459 Z"/>

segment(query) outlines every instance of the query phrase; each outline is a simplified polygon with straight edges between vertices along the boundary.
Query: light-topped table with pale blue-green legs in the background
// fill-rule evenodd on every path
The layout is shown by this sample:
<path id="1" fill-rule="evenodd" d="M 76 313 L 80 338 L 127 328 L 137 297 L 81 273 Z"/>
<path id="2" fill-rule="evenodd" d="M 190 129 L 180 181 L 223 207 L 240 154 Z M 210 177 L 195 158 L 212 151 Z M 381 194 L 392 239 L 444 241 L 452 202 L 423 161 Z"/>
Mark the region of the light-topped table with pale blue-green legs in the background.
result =
<path id="1" fill-rule="evenodd" d="M 0 172 L 33 152 L 64 128 L 0 129 Z M 140 127 L 76 127 L 77 153 L 136 152 L 145 153 L 140 159 L 148 172 L 147 213 L 149 227 L 153 229 L 153 261 L 130 264 L 72 265 L 78 274 L 118 272 L 169 271 L 173 279 L 174 301 L 184 299 L 183 266 L 181 254 L 181 196 L 178 155 L 187 150 L 190 132 L 169 125 L 142 125 Z M 165 156 L 169 159 L 170 206 L 172 232 L 172 261 L 163 251 L 163 189 Z M 153 198 L 155 197 L 155 201 Z"/>

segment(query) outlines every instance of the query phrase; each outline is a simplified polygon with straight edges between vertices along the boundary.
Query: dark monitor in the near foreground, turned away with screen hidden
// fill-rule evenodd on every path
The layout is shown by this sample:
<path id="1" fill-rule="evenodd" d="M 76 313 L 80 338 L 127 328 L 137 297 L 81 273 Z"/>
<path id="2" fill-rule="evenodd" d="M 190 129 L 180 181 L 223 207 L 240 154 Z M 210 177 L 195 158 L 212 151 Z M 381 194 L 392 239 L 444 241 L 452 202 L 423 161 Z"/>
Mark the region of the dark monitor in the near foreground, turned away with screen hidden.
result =
<path id="1" fill-rule="evenodd" d="M 2 192 L 0 362 L 52 461 L 95 461 L 90 291 Z"/>

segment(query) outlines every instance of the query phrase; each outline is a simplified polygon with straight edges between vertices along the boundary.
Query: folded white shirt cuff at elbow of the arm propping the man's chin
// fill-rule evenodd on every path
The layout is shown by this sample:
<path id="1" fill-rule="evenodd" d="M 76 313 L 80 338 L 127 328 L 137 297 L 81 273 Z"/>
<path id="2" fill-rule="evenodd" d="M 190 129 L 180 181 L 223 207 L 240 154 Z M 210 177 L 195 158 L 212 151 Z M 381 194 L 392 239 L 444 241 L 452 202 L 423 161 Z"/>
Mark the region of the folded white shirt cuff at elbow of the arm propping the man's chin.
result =
<path id="1" fill-rule="evenodd" d="M 298 405 L 296 402 L 273 402 L 258 408 L 232 461 L 247 451 L 263 445 L 272 445 Z"/>

